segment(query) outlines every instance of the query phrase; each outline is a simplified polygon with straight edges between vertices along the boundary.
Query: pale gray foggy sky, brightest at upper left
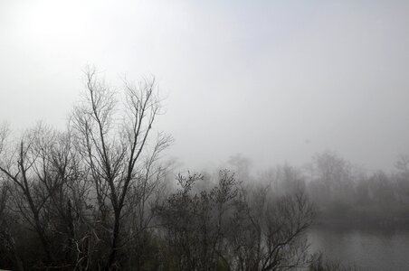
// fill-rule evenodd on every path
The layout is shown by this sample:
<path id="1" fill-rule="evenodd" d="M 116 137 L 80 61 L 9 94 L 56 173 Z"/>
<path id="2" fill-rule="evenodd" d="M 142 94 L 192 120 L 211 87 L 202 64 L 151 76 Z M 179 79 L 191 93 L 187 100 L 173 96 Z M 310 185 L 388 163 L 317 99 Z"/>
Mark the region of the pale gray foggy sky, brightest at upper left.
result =
<path id="1" fill-rule="evenodd" d="M 156 76 L 185 167 L 409 153 L 409 1 L 0 0 L 0 121 L 63 126 L 86 64 Z"/>

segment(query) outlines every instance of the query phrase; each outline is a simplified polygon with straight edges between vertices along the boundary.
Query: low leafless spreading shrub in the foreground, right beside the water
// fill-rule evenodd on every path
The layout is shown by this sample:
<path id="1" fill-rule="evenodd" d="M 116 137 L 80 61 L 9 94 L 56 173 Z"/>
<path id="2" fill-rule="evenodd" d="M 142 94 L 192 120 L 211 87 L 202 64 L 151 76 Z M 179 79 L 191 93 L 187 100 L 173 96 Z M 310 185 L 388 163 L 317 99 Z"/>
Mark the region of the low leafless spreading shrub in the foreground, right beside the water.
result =
<path id="1" fill-rule="evenodd" d="M 309 255 L 305 231 L 314 208 L 300 190 L 277 196 L 269 185 L 242 188 L 231 235 L 234 270 L 289 270 L 306 267 Z M 232 228 L 233 228 L 232 227 Z"/>

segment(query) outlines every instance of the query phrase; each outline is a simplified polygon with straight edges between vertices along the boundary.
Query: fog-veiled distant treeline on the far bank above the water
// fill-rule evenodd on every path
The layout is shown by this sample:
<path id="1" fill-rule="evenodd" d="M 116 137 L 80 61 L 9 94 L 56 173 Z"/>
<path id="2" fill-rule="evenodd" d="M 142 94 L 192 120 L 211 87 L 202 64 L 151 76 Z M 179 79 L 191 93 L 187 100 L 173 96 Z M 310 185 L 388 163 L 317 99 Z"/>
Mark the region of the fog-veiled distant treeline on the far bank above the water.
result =
<path id="1" fill-rule="evenodd" d="M 317 207 L 319 224 L 341 227 L 409 226 L 409 158 L 396 161 L 394 173 L 366 173 L 337 154 L 316 154 L 295 169 L 288 165 L 271 172 L 277 191 L 302 186 Z"/>

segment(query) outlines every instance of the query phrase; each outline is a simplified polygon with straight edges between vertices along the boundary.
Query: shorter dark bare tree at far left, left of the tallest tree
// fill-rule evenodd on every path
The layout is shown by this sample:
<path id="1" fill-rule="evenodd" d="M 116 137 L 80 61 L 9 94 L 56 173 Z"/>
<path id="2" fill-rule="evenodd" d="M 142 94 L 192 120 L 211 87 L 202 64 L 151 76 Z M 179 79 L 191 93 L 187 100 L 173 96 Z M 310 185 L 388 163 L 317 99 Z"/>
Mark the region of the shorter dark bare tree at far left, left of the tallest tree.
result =
<path id="1" fill-rule="evenodd" d="M 39 124 L 2 148 L 0 171 L 8 183 L 8 210 L 18 214 L 16 223 L 27 225 L 37 234 L 44 263 L 51 266 L 71 257 L 73 233 L 67 184 L 79 173 L 71 147 L 69 136 Z M 14 254 L 20 258 L 15 249 Z"/>

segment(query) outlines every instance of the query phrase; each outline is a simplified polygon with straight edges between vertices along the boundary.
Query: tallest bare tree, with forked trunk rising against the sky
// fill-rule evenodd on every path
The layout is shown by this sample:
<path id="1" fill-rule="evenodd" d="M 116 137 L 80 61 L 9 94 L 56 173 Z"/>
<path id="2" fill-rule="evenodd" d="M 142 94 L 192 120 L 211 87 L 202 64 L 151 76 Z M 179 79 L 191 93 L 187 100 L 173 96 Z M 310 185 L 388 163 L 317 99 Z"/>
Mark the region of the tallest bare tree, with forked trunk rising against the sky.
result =
<path id="1" fill-rule="evenodd" d="M 74 111 L 73 127 L 81 155 L 90 169 L 100 226 L 108 232 L 109 255 L 105 269 L 110 269 L 118 264 L 118 252 L 128 238 L 120 236 L 123 210 L 130 203 L 128 193 L 134 185 L 147 183 L 144 180 L 149 172 L 143 170 L 149 165 L 147 157 L 151 155 L 155 160 L 171 138 L 160 135 L 159 144 L 153 153 L 149 152 L 152 126 L 160 113 L 155 79 L 143 79 L 138 86 L 125 82 L 125 102 L 119 104 L 118 95 L 97 78 L 95 69 L 87 70 L 86 76 L 87 92 L 82 105 Z M 147 196 L 145 192 L 142 197 Z"/>

